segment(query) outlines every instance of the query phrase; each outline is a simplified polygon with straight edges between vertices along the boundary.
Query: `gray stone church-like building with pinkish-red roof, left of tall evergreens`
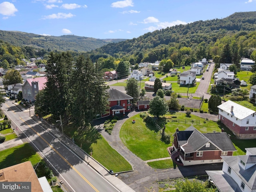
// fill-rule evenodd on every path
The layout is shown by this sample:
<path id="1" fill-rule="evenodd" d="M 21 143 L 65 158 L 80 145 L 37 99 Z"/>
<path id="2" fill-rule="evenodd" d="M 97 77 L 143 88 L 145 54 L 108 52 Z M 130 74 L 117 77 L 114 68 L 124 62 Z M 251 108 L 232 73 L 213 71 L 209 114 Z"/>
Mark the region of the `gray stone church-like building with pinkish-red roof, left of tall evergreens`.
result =
<path id="1" fill-rule="evenodd" d="M 38 92 L 45 87 L 46 77 L 37 77 L 26 79 L 22 85 L 22 96 L 25 101 L 34 102 Z"/>

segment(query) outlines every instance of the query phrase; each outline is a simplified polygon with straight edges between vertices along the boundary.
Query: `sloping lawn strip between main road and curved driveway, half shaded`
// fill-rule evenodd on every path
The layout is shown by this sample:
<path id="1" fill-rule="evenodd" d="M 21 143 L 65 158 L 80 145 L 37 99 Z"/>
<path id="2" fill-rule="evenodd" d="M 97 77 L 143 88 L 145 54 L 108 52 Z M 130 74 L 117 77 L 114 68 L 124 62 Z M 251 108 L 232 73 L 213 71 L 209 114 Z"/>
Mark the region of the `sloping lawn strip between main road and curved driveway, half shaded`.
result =
<path id="1" fill-rule="evenodd" d="M 77 126 L 65 126 L 64 132 L 70 138 L 74 138 L 75 143 L 81 146 L 88 154 L 92 154 L 100 164 L 108 170 L 121 172 L 132 170 L 132 166 L 94 128 L 78 129 Z"/>

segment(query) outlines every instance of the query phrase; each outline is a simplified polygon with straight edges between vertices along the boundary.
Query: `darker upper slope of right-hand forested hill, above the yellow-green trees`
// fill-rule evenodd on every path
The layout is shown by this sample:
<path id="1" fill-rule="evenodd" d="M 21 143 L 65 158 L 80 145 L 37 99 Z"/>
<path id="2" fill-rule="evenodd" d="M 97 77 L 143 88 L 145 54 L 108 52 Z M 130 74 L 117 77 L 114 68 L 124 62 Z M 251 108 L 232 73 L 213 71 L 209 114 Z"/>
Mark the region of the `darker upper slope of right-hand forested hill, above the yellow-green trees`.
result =
<path id="1" fill-rule="evenodd" d="M 150 52 L 161 48 L 189 47 L 195 49 L 198 45 L 204 47 L 214 46 L 218 40 L 225 36 L 246 36 L 256 30 L 256 12 L 236 12 L 226 18 L 206 21 L 196 21 L 167 27 L 154 32 L 148 32 L 138 38 L 111 43 L 92 50 L 91 58 L 97 55 L 108 54 L 114 57 L 124 55 L 137 56 L 139 52 L 147 57 Z M 146 56 L 145 56 L 146 54 Z M 162 58 L 158 58 L 162 59 Z M 146 61 L 146 60 L 144 60 Z"/>

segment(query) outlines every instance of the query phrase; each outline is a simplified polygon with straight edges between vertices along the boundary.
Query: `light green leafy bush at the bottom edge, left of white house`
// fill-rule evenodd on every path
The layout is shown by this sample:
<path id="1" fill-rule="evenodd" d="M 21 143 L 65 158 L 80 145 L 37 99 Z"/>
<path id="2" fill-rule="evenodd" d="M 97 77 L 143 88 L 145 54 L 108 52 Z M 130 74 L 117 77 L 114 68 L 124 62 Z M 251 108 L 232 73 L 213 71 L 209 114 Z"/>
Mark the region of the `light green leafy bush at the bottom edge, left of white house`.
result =
<path id="1" fill-rule="evenodd" d="M 178 180 L 175 184 L 176 192 L 215 192 L 214 188 L 207 188 L 207 182 L 201 182 L 200 180 Z"/>

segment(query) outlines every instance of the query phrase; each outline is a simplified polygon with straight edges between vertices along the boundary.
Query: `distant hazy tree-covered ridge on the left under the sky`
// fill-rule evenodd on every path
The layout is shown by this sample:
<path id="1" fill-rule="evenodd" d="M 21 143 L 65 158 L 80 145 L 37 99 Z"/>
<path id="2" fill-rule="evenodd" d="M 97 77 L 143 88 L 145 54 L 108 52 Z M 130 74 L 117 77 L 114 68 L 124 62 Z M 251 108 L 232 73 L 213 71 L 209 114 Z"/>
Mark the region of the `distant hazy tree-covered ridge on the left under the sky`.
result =
<path id="1" fill-rule="evenodd" d="M 72 50 L 76 52 L 86 52 L 100 48 L 108 43 L 119 42 L 125 39 L 96 39 L 75 35 L 43 36 L 20 31 L 0 30 L 0 40 L 8 42 L 14 46 L 31 46 L 46 51 Z"/>

